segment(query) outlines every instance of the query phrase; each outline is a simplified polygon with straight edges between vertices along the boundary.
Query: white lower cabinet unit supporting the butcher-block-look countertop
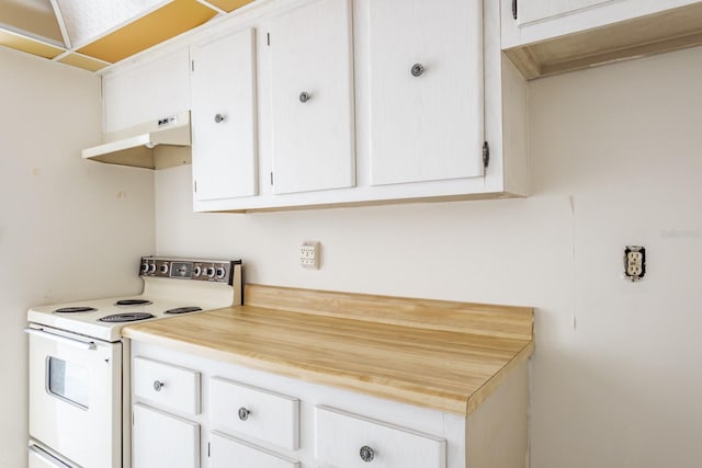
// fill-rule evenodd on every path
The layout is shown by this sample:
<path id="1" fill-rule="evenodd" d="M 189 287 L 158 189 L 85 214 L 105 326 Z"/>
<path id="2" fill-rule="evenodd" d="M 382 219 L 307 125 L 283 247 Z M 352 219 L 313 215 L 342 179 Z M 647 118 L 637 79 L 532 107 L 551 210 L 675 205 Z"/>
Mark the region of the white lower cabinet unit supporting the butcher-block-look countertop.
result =
<path id="1" fill-rule="evenodd" d="M 133 468 L 525 467 L 526 365 L 466 418 L 150 343 L 131 349 L 141 369 L 132 379 Z M 202 411 L 188 399 L 163 410 L 136 392 L 154 380 L 145 363 L 201 375 Z"/>

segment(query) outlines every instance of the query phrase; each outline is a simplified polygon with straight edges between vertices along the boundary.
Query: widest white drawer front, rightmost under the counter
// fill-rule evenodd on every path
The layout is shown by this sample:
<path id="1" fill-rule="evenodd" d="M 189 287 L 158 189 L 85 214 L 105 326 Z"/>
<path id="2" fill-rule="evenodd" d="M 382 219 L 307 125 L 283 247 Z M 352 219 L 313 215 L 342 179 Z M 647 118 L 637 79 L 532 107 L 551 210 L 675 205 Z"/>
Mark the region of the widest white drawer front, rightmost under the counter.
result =
<path id="1" fill-rule="evenodd" d="M 315 457 L 318 463 L 338 468 L 445 468 L 446 441 L 317 407 Z"/>

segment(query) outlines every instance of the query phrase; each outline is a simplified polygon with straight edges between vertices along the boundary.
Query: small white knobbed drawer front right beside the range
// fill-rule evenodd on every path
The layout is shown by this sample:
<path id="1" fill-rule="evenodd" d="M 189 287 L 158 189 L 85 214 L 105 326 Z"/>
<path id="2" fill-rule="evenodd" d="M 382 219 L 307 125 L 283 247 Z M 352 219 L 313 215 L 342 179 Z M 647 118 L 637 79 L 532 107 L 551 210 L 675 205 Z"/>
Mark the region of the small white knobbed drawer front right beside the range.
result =
<path id="1" fill-rule="evenodd" d="M 158 407 L 200 414 L 200 373 L 137 356 L 132 369 L 134 395 Z"/>

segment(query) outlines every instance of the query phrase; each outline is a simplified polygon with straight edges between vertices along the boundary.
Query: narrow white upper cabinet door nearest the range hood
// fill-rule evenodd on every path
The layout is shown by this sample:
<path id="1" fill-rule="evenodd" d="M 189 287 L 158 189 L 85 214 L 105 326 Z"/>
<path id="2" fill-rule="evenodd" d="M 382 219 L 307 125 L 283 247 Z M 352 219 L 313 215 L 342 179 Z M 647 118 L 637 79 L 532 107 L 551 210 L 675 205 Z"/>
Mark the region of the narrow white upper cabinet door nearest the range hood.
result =
<path id="1" fill-rule="evenodd" d="M 254 30 L 192 48 L 194 198 L 257 194 Z"/>

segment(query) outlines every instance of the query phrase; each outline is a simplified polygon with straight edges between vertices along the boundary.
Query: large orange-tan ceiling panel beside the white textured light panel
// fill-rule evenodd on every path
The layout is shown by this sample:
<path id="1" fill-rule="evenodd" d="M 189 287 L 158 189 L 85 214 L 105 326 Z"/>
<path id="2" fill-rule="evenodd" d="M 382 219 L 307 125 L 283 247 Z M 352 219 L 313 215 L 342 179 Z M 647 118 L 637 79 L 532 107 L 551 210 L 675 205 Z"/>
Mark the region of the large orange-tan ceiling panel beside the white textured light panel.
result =
<path id="1" fill-rule="evenodd" d="M 116 62 L 206 23 L 216 14 L 196 0 L 173 0 L 78 52 Z"/>

